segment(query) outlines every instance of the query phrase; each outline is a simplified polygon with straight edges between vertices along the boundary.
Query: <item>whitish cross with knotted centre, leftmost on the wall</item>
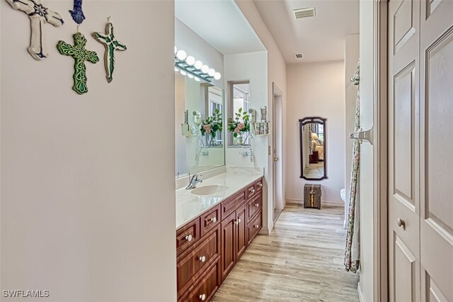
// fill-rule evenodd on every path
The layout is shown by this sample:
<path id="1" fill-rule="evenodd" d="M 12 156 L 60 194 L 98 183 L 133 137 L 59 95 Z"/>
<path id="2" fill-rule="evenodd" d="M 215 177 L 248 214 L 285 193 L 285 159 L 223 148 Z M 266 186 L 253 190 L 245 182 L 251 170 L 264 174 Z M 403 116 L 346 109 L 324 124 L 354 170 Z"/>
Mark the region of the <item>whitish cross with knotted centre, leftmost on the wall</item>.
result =
<path id="1" fill-rule="evenodd" d="M 44 23 L 52 26 L 62 26 L 64 21 L 62 16 L 55 11 L 51 11 L 41 4 L 41 0 L 6 0 L 8 4 L 17 11 L 23 11 L 30 18 L 31 38 L 28 52 L 35 60 L 42 60 L 49 56 L 42 41 L 42 30 Z"/>

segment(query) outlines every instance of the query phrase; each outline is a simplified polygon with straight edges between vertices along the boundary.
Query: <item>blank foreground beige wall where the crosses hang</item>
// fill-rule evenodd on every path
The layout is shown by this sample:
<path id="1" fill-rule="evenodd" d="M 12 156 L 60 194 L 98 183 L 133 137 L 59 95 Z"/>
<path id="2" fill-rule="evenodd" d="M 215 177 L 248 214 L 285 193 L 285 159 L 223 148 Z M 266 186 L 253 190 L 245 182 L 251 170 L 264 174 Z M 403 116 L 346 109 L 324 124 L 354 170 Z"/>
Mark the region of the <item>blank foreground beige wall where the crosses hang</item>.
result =
<path id="1" fill-rule="evenodd" d="M 28 17 L 0 1 L 2 290 L 176 301 L 174 4 L 131 2 L 84 1 L 80 29 L 101 62 L 86 63 L 79 96 L 74 60 L 55 47 L 73 43 L 73 1 L 45 1 L 66 23 L 45 25 L 41 62 L 27 52 Z M 91 38 L 108 16 L 127 45 L 110 84 Z"/>

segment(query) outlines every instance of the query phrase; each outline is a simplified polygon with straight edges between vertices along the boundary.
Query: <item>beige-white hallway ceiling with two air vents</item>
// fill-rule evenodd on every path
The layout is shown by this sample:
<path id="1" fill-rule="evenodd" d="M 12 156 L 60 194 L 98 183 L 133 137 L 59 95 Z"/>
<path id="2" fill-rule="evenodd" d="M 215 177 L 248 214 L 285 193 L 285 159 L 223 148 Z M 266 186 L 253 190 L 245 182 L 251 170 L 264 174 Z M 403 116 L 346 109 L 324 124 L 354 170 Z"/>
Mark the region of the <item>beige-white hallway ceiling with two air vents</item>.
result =
<path id="1" fill-rule="evenodd" d="M 253 0 L 288 64 L 344 60 L 345 35 L 359 33 L 359 0 Z M 293 9 L 316 8 L 294 19 Z M 295 59 L 302 53 L 303 59 Z"/>

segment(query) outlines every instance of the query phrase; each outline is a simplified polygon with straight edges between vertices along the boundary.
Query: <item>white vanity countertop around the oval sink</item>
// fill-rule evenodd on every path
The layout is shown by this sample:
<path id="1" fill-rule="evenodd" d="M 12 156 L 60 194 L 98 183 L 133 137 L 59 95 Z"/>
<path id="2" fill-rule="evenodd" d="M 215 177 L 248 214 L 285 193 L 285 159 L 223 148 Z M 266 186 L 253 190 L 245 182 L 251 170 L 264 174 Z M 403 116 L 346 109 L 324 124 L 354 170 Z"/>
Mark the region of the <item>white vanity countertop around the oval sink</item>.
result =
<path id="1" fill-rule="evenodd" d="M 220 197 L 212 196 L 197 196 L 196 198 L 190 194 L 191 190 L 178 189 L 176 190 L 176 229 L 188 223 L 193 218 L 200 216 L 201 213 L 216 206 L 224 201 L 229 196 L 237 191 L 245 188 L 249 184 L 263 177 L 262 168 L 254 167 L 226 167 L 226 172 L 214 177 L 202 179 L 202 183 L 197 184 L 197 188 L 201 186 L 209 186 L 219 184 L 227 186 L 226 191 Z"/>

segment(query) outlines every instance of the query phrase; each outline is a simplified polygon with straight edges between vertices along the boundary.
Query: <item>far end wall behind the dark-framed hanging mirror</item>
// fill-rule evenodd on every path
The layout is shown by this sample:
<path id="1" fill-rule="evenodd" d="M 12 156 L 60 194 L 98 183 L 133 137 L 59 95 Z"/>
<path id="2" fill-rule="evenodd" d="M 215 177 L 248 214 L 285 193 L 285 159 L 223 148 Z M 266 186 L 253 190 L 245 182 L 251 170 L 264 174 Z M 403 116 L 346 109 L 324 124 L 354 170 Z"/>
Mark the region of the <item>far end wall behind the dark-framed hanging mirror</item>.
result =
<path id="1" fill-rule="evenodd" d="M 287 67 L 287 199 L 302 200 L 304 184 L 321 184 L 323 201 L 341 201 L 345 185 L 345 63 L 316 62 Z M 299 119 L 327 118 L 327 177 L 301 179 Z"/>

